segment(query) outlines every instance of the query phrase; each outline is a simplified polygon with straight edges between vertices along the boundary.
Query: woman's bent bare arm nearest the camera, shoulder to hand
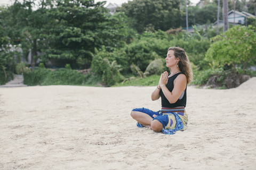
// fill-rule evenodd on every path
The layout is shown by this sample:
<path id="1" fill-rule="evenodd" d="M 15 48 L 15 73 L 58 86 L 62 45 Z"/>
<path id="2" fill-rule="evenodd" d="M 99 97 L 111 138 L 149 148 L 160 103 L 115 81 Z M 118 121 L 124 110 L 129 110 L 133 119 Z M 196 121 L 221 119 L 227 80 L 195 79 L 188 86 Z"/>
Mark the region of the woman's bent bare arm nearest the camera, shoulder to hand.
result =
<path id="1" fill-rule="evenodd" d="M 179 97 L 181 96 L 182 92 L 186 89 L 187 87 L 187 77 L 184 74 L 178 75 L 178 77 L 174 80 L 174 88 L 171 91 L 167 89 L 165 86 L 165 79 L 166 77 L 163 77 L 162 81 L 160 81 L 160 86 L 162 88 L 164 96 L 167 98 L 169 103 L 175 103 Z"/>

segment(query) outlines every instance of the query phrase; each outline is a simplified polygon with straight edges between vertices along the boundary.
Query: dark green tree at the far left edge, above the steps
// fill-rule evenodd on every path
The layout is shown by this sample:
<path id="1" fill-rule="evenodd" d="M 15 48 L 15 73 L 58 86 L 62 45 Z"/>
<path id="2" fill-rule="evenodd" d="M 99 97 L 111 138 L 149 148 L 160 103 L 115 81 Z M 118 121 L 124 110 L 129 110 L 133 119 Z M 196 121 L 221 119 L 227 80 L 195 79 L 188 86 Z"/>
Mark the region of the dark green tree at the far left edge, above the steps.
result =
<path id="1" fill-rule="evenodd" d="M 41 8 L 33 11 L 35 6 L 34 0 L 24 0 L 22 3 L 14 1 L 13 5 L 7 7 L 7 13 L 3 13 L 6 16 L 4 17 L 6 36 L 10 39 L 13 47 L 21 44 L 24 58 L 27 58 L 31 49 L 31 65 L 33 70 L 38 58 L 37 52 L 41 50 L 38 47 L 38 42 L 42 42 L 42 31 L 47 24 L 47 3 L 42 0 L 42 4 Z M 17 50 L 15 50 L 15 53 L 17 53 Z"/>

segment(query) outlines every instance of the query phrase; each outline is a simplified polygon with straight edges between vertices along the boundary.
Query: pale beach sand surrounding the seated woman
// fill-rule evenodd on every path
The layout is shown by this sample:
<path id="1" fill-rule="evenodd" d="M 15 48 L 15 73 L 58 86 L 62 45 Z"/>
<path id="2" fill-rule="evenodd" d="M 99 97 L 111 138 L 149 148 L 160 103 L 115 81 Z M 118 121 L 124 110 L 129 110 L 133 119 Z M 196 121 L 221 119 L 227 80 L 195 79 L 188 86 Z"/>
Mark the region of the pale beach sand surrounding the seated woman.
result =
<path id="1" fill-rule="evenodd" d="M 256 78 L 188 87 L 188 129 L 137 128 L 156 87 L 0 88 L 0 169 L 256 169 Z"/>

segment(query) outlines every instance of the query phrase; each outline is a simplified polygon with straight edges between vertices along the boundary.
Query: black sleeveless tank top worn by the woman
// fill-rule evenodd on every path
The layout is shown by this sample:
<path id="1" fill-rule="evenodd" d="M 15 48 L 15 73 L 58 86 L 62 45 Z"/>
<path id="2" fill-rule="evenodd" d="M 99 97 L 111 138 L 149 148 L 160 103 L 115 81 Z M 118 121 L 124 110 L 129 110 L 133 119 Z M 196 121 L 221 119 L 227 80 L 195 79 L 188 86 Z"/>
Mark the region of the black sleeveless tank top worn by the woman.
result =
<path id="1" fill-rule="evenodd" d="M 174 80 L 178 77 L 178 75 L 180 74 L 184 74 L 184 73 L 177 73 L 174 74 L 172 77 L 168 78 L 168 82 L 166 84 L 166 87 L 169 91 L 172 92 L 173 88 L 174 88 Z M 174 108 L 174 107 L 179 107 L 179 106 L 184 106 L 186 107 L 186 103 L 187 103 L 187 87 L 184 91 L 184 95 L 181 99 L 178 99 L 175 103 L 170 104 L 169 101 L 166 99 L 166 97 L 163 94 L 163 91 L 160 90 L 160 96 L 162 99 L 162 107 L 168 107 L 168 108 Z"/>

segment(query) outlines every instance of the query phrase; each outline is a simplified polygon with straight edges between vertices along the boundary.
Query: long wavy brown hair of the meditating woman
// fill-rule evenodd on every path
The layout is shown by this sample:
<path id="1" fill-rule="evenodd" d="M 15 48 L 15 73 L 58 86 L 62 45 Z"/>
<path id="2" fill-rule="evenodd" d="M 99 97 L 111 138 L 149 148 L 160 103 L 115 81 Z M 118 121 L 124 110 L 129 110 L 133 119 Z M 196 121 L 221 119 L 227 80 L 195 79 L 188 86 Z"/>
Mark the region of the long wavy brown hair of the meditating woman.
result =
<path id="1" fill-rule="evenodd" d="M 185 50 L 180 47 L 170 47 L 167 52 L 169 52 L 169 50 L 173 50 L 175 58 L 180 59 L 178 66 L 180 71 L 186 75 L 187 84 L 189 84 L 193 80 L 193 71 Z"/>

